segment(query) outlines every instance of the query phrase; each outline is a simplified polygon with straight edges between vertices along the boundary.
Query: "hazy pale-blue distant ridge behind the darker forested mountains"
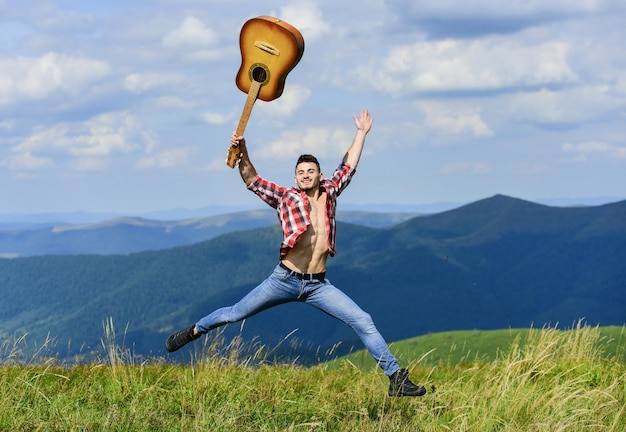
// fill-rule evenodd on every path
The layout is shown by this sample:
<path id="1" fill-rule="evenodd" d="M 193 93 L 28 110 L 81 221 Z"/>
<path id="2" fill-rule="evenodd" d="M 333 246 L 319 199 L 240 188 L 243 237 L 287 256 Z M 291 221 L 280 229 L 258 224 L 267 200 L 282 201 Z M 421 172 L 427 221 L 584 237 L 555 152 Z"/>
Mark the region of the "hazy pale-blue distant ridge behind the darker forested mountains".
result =
<path id="1" fill-rule="evenodd" d="M 337 219 L 369 227 L 385 227 L 417 213 L 339 211 Z M 44 225 L 34 229 L 0 226 L 0 257 L 33 255 L 129 254 L 169 249 L 209 240 L 232 231 L 277 224 L 271 208 L 180 221 L 118 217 L 93 224 Z"/>

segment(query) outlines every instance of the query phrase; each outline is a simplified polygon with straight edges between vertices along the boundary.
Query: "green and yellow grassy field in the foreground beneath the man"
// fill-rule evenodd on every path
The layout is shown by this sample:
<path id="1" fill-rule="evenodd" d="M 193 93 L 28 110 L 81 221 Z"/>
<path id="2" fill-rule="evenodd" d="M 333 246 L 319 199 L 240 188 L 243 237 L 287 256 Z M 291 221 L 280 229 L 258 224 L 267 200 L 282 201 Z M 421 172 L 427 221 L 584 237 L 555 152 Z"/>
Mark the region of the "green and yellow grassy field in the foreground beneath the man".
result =
<path id="1" fill-rule="evenodd" d="M 393 347 L 428 393 L 390 398 L 362 353 L 268 366 L 262 349 L 242 359 L 197 343 L 185 365 L 137 363 L 109 326 L 107 355 L 89 364 L 46 359 L 45 347 L 24 360 L 23 340 L 5 342 L 0 430 L 623 432 L 624 338 L 584 326 L 423 336 Z"/>

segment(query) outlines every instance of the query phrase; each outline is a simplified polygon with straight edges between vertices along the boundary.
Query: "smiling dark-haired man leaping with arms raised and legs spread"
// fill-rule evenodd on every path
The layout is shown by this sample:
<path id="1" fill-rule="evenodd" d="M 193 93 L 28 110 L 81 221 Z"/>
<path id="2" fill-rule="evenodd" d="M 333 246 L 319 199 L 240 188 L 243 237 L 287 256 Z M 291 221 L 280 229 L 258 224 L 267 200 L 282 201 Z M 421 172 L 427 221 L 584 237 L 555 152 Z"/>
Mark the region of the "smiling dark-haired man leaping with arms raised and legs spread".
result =
<path id="1" fill-rule="evenodd" d="M 356 135 L 341 164 L 324 179 L 317 159 L 302 155 L 296 163 L 296 187 L 279 186 L 257 174 L 250 162 L 246 140 L 233 133 L 231 145 L 241 151 L 239 173 L 249 190 L 276 209 L 283 229 L 280 263 L 272 274 L 233 306 L 217 309 L 195 325 L 172 334 L 166 348 L 173 352 L 202 334 L 227 323 L 241 321 L 282 303 L 300 301 L 326 312 L 350 327 L 389 376 L 390 396 L 422 396 L 423 386 L 400 369 L 372 318 L 326 279 L 326 260 L 335 255 L 336 199 L 350 183 L 361 158 L 365 137 L 374 119 L 367 110 L 353 116 Z"/>

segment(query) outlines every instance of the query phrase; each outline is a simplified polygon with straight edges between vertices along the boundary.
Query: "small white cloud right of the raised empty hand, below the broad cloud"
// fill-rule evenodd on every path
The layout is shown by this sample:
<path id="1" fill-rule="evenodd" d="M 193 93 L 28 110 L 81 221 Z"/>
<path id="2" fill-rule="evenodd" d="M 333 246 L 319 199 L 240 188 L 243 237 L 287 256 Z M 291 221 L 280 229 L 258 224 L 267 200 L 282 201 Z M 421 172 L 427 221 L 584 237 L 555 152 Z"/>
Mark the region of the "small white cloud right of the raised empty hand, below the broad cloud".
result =
<path id="1" fill-rule="evenodd" d="M 445 134 L 493 136 L 493 131 L 480 117 L 477 107 L 434 100 L 419 101 L 416 106 L 425 115 L 425 125 Z"/>

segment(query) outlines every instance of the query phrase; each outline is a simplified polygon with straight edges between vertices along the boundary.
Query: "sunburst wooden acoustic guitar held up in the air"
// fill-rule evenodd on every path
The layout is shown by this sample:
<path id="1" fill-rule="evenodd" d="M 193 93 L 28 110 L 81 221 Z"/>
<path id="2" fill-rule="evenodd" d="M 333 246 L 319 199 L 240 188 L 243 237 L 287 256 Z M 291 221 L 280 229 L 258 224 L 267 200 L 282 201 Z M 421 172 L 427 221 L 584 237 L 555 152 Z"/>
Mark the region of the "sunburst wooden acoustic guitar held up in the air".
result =
<path id="1" fill-rule="evenodd" d="M 241 28 L 239 48 L 241 67 L 235 83 L 248 94 L 237 126 L 237 135 L 243 135 L 257 98 L 269 102 L 283 94 L 287 74 L 304 53 L 304 39 L 286 22 L 260 16 L 248 20 Z M 234 168 L 240 159 L 239 148 L 231 145 L 226 165 Z"/>

